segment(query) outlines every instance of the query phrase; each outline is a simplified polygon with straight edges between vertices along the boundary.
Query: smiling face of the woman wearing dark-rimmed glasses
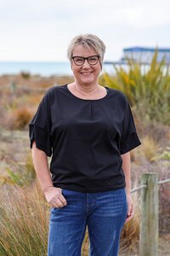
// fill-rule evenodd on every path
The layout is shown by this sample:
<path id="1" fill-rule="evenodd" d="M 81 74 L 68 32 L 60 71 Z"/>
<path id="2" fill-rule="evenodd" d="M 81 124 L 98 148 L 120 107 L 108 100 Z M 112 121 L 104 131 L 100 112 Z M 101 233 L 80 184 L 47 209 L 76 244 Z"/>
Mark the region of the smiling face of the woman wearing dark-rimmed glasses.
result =
<path id="1" fill-rule="evenodd" d="M 94 49 L 87 49 L 82 45 L 77 45 L 73 50 L 72 56 L 88 57 L 98 55 Z M 71 68 L 74 74 L 74 78 L 78 84 L 94 85 L 98 83 L 99 73 L 101 71 L 101 64 L 98 61 L 95 65 L 90 65 L 88 60 L 85 60 L 82 66 L 77 66 L 73 60 L 71 60 Z"/>

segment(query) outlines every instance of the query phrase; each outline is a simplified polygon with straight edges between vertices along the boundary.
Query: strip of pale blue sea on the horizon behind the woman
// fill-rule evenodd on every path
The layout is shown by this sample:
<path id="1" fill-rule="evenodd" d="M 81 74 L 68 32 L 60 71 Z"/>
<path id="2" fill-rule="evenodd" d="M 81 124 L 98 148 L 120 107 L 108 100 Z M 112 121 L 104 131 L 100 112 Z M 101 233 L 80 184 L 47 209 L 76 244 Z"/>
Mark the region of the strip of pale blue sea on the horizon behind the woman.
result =
<path id="1" fill-rule="evenodd" d="M 114 73 L 113 65 L 104 64 L 102 72 Z M 69 62 L 19 62 L 19 61 L 0 61 L 0 75 L 16 75 L 19 73 L 30 73 L 31 75 L 67 76 L 72 75 Z"/>

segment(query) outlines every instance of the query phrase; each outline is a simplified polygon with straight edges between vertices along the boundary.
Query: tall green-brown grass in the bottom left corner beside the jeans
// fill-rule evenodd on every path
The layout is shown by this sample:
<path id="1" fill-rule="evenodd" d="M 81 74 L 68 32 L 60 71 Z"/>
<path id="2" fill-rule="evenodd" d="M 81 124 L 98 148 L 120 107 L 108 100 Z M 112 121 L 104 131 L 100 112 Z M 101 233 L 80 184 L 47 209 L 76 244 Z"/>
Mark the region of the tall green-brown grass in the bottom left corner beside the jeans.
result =
<path id="1" fill-rule="evenodd" d="M 48 205 L 37 184 L 3 187 L 0 195 L 0 255 L 47 255 Z"/>

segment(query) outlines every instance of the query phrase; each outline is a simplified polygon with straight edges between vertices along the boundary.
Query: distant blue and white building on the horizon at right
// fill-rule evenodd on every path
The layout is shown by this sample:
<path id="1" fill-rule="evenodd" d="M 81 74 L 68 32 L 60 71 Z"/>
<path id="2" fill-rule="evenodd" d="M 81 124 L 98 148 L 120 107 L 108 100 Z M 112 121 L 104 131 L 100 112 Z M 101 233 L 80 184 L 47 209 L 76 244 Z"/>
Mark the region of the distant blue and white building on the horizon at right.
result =
<path id="1" fill-rule="evenodd" d="M 157 61 L 160 62 L 163 57 L 167 64 L 170 64 L 170 48 L 158 48 Z M 133 59 L 144 64 L 149 64 L 156 52 L 156 48 L 148 47 L 130 47 L 123 49 L 122 62 L 126 62 L 126 59 Z"/>

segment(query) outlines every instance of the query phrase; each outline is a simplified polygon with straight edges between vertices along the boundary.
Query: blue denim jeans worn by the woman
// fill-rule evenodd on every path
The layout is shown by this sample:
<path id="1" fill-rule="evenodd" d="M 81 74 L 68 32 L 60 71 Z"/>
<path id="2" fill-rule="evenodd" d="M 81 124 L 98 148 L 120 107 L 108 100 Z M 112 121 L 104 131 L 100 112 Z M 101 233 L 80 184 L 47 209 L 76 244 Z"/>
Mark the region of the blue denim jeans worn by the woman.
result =
<path id="1" fill-rule="evenodd" d="M 62 189 L 67 205 L 51 208 L 48 256 L 81 256 L 88 226 L 90 256 L 118 255 L 127 217 L 125 189 L 82 193 Z"/>

